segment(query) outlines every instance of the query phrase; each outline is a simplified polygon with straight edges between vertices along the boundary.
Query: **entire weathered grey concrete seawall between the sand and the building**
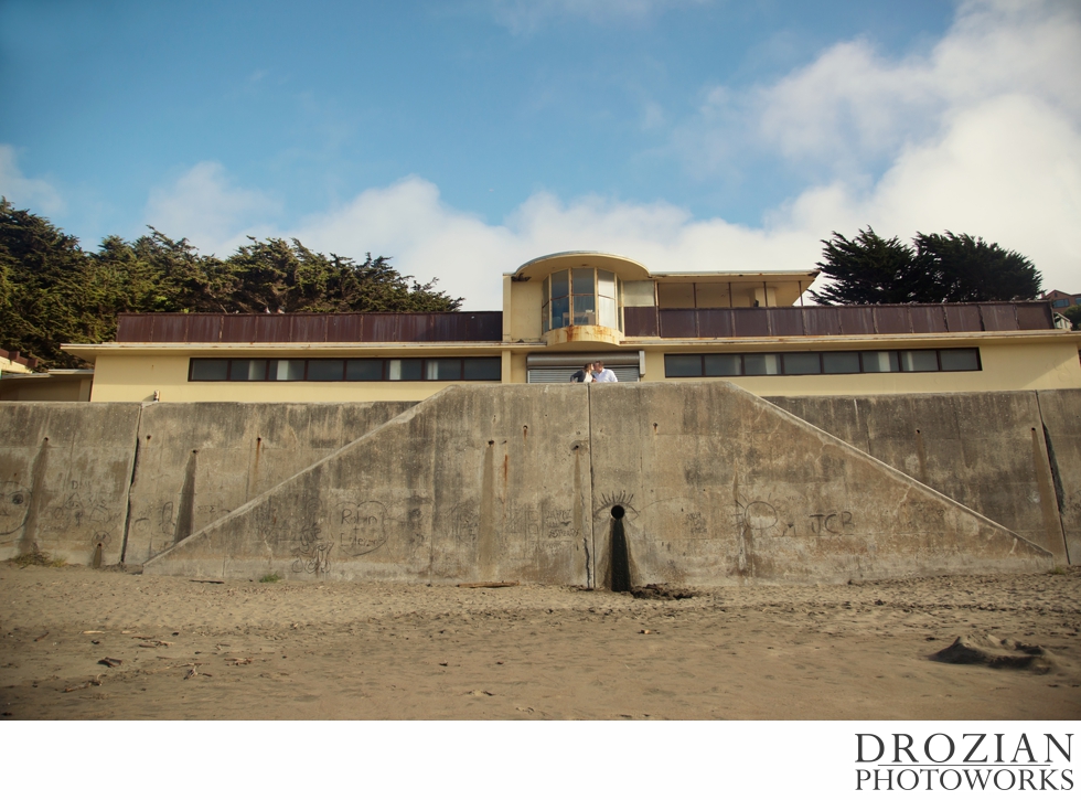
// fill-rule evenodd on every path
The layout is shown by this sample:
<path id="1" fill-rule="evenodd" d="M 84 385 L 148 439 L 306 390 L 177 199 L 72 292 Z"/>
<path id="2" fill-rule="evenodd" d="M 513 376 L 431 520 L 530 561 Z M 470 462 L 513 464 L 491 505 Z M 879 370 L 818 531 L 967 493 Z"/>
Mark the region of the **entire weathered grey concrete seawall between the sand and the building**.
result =
<path id="1" fill-rule="evenodd" d="M 719 383 L 0 404 L 0 558 L 607 586 L 616 506 L 635 584 L 1081 557 L 1081 392 L 774 402 L 795 416 Z"/>

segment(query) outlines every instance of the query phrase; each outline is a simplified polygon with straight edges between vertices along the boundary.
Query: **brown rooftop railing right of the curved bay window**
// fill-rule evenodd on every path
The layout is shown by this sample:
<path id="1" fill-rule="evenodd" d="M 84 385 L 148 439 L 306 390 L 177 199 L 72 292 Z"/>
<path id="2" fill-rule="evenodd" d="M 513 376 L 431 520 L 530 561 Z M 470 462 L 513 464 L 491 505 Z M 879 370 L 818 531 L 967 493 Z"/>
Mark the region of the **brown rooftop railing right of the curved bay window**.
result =
<path id="1" fill-rule="evenodd" d="M 628 337 L 743 339 L 1051 330 L 1051 305 L 980 302 L 785 308 L 625 308 Z"/>

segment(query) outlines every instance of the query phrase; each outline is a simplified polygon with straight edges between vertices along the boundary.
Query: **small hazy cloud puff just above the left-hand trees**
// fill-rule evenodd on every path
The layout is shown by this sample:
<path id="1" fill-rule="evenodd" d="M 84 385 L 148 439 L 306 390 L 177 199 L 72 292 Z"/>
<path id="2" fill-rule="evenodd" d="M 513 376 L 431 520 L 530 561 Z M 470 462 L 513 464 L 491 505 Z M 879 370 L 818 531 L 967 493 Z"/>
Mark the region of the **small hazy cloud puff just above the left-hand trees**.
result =
<path id="1" fill-rule="evenodd" d="M 244 233 L 265 230 L 267 220 L 279 212 L 280 203 L 232 185 L 222 164 L 203 161 L 171 186 L 151 191 L 146 216 L 167 236 L 184 236 L 204 250 L 226 253 L 243 243 Z"/>

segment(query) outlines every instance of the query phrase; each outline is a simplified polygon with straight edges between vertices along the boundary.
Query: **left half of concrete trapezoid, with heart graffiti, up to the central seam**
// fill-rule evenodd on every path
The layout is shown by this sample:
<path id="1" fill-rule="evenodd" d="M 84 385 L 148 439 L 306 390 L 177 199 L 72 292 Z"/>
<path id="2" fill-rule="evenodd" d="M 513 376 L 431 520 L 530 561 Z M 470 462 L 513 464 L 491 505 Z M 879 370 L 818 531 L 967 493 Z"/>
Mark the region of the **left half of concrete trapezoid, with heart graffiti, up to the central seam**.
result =
<path id="1" fill-rule="evenodd" d="M 586 387 L 454 386 L 146 569 L 585 585 L 589 509 Z"/>

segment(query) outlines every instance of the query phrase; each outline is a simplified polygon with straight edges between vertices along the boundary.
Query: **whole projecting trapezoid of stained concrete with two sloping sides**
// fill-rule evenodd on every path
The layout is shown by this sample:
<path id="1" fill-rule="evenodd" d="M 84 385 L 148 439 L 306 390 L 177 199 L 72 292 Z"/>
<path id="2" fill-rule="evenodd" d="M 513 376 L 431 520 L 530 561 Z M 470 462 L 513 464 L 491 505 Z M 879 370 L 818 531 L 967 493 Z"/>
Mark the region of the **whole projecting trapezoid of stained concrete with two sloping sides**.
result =
<path id="1" fill-rule="evenodd" d="M 731 384 L 646 383 L 451 386 L 145 569 L 611 587 L 1051 564 L 1046 550 Z"/>

